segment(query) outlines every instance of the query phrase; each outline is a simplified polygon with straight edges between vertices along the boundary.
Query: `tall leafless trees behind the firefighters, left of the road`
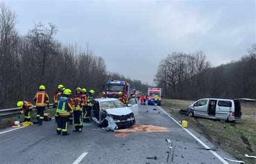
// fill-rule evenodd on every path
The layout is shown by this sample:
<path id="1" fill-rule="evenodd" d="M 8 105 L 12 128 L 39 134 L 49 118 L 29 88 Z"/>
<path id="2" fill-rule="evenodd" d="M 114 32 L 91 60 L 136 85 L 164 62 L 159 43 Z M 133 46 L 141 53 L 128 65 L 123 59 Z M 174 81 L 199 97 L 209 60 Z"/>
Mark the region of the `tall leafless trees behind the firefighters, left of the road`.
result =
<path id="1" fill-rule="evenodd" d="M 109 77 L 123 78 L 107 72 L 104 59 L 89 44 L 61 44 L 57 26 L 37 23 L 22 36 L 15 29 L 15 12 L 3 3 L 0 10 L 0 108 L 31 101 L 39 85 L 46 87 L 52 100 L 58 84 L 100 94 Z"/>

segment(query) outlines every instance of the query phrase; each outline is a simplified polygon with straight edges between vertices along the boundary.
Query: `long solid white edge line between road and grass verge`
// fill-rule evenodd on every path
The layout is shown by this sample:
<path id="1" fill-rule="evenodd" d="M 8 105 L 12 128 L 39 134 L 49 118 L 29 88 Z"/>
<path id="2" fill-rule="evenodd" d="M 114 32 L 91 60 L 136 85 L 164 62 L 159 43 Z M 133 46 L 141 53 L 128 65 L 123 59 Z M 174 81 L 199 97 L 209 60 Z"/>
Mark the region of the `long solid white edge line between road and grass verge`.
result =
<path id="1" fill-rule="evenodd" d="M 161 107 L 157 106 L 161 111 L 163 111 L 166 115 L 168 115 L 168 117 L 170 117 L 174 122 L 176 122 L 181 128 L 183 128 L 178 121 L 176 121 L 175 119 L 173 119 L 169 114 L 167 114 Z M 188 129 L 183 128 L 188 134 L 190 134 L 191 136 L 193 136 L 194 139 L 196 139 L 201 145 L 203 145 L 206 149 L 210 149 L 210 147 L 208 147 L 203 141 L 201 141 L 199 138 L 197 138 L 194 134 L 192 134 L 190 131 L 188 131 Z M 209 150 L 209 152 L 211 152 L 213 155 L 215 155 L 221 162 L 228 164 L 227 161 L 225 161 L 219 154 L 217 154 L 214 151 Z"/>

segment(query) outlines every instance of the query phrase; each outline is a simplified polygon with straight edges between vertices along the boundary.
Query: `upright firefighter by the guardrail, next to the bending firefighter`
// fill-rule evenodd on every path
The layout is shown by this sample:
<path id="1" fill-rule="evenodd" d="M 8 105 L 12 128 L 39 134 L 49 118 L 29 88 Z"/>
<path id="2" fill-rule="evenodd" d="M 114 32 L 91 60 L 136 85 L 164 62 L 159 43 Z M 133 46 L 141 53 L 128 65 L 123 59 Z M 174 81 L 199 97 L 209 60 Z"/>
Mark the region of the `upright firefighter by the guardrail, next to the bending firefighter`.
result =
<path id="1" fill-rule="evenodd" d="M 45 86 L 39 86 L 39 91 L 36 93 L 34 101 L 36 101 L 37 121 L 39 122 L 39 125 L 42 125 L 44 119 L 45 106 L 49 107 L 49 95 L 45 91 Z"/>

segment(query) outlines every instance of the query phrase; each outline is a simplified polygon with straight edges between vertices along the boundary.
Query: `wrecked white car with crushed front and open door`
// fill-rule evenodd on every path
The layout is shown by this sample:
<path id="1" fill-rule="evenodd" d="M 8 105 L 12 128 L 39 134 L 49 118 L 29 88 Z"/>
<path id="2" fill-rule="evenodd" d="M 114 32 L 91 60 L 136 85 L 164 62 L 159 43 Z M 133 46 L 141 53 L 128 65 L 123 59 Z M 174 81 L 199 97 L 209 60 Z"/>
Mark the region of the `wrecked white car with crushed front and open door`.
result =
<path id="1" fill-rule="evenodd" d="M 95 111 L 98 111 L 98 116 L 93 112 L 92 120 L 97 122 L 100 127 L 107 127 L 108 122 L 105 119 L 107 115 L 113 118 L 117 126 L 129 127 L 135 124 L 134 116 L 139 114 L 138 104 L 135 98 L 128 101 L 125 106 L 121 101 L 115 98 L 95 99 Z"/>

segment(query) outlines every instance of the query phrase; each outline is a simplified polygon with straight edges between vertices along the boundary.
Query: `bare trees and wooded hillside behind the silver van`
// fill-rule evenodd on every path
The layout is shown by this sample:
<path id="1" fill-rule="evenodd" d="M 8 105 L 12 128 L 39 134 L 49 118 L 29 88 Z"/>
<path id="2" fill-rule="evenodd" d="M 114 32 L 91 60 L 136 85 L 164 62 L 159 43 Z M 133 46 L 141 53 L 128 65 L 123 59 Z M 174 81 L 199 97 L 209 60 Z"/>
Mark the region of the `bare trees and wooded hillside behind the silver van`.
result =
<path id="1" fill-rule="evenodd" d="M 173 99 L 255 98 L 256 44 L 240 60 L 217 67 L 203 51 L 173 52 L 160 61 L 154 81 Z"/>

